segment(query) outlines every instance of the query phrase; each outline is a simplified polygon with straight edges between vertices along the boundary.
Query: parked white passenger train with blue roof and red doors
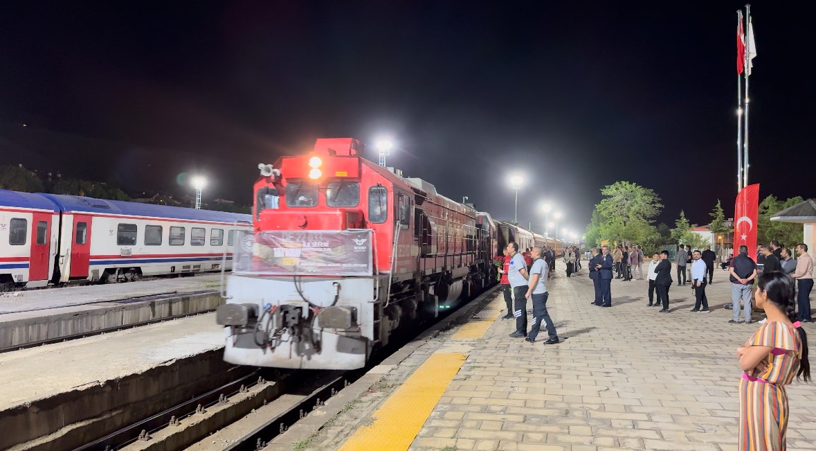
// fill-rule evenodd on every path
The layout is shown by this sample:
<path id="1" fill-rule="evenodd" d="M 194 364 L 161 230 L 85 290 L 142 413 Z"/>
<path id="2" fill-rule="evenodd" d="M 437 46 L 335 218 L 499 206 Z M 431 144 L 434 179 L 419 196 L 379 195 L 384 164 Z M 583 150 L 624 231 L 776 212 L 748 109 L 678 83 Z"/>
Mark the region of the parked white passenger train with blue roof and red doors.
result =
<path id="1" fill-rule="evenodd" d="M 224 250 L 250 221 L 236 213 L 0 190 L 0 288 L 221 270 Z"/>

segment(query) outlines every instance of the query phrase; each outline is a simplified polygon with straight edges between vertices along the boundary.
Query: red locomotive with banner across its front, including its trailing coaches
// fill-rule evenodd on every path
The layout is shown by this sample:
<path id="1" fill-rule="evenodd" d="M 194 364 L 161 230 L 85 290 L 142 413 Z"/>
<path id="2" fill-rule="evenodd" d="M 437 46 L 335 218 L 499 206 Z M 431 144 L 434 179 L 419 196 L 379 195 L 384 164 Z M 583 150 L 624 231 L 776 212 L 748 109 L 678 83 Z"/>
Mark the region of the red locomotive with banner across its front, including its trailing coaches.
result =
<path id="1" fill-rule="evenodd" d="M 491 259 L 508 241 L 560 252 L 360 150 L 318 139 L 311 154 L 259 165 L 254 230 L 236 240 L 216 315 L 228 362 L 360 368 L 397 328 L 495 284 Z"/>

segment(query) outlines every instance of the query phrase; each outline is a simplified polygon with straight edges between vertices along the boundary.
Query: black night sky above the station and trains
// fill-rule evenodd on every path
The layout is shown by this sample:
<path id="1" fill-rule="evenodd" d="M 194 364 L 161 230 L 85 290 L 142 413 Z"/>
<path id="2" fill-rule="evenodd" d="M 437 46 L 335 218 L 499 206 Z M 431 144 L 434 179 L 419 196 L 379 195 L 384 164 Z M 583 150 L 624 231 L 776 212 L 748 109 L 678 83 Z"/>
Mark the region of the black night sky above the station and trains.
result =
<path id="1" fill-rule="evenodd" d="M 545 3 L 4 2 L 0 157 L 131 192 L 202 173 L 205 197 L 251 203 L 258 163 L 392 136 L 389 166 L 494 217 L 522 173 L 534 230 L 549 200 L 583 233 L 617 180 L 669 224 L 733 212 L 743 2 Z M 812 15 L 752 16 L 751 182 L 816 197 Z"/>

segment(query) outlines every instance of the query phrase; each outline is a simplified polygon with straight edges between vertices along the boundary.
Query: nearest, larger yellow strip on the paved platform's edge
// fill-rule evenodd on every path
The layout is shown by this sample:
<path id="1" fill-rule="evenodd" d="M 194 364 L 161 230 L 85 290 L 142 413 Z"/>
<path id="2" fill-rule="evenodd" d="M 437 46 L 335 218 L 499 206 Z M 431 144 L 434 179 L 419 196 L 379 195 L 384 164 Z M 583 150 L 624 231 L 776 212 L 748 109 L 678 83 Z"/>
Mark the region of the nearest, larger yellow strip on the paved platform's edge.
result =
<path id="1" fill-rule="evenodd" d="M 404 451 L 414 441 L 467 354 L 437 353 L 421 364 L 339 451 Z"/>

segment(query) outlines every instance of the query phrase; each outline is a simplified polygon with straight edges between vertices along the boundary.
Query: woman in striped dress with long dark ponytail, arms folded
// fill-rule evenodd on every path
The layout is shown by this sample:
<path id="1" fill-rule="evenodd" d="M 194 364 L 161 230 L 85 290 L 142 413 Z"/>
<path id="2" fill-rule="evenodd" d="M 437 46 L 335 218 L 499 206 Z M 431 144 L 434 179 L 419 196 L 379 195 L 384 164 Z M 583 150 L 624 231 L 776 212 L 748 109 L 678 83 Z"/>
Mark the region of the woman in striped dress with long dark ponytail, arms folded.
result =
<path id="1" fill-rule="evenodd" d="M 756 306 L 768 320 L 737 350 L 744 372 L 739 381 L 739 449 L 784 450 L 785 386 L 794 375 L 810 379 L 807 336 L 795 322 L 793 279 L 778 271 L 757 279 Z"/>

